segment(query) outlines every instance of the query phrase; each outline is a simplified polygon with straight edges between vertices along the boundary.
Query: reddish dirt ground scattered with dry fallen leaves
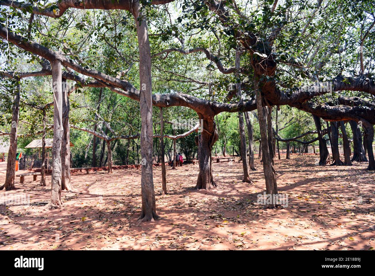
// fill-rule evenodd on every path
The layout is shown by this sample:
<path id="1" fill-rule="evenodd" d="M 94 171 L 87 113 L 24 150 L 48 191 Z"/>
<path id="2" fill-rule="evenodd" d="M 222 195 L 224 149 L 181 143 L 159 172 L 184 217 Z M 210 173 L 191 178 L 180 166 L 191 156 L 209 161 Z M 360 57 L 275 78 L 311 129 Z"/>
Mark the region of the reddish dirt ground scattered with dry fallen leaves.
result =
<path id="1" fill-rule="evenodd" d="M 375 248 L 375 174 L 354 166 L 316 166 L 317 156 L 275 160 L 279 192 L 288 207 L 263 210 L 257 195 L 265 183 L 262 165 L 243 183 L 242 164 L 213 162 L 216 190 L 194 190 L 198 164 L 167 167 L 169 195 L 160 195 L 161 167 L 154 168 L 161 220 L 137 226 L 140 170 L 72 175 L 79 193 L 63 191 L 63 208 L 43 211 L 50 189 L 32 177 L 4 199 L 30 196 L 30 205 L 0 205 L 0 250 L 52 249 L 363 249 Z M 5 162 L 4 162 L 5 163 Z M 3 183 L 5 174 L 0 174 Z M 40 178 L 39 178 L 40 179 Z M 47 183 L 51 180 L 47 177 Z"/>

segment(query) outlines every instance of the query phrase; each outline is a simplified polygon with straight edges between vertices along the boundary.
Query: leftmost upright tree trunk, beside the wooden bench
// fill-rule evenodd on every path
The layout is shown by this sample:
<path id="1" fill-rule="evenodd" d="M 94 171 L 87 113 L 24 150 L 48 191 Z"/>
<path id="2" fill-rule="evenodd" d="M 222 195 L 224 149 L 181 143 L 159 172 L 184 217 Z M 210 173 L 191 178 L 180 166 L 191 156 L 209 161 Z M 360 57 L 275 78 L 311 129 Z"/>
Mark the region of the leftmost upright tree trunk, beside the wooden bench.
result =
<path id="1" fill-rule="evenodd" d="M 18 120 L 20 118 L 20 91 L 21 83 L 20 80 L 17 80 L 17 88 L 14 91 L 13 97 L 13 107 L 12 107 L 12 121 L 10 135 L 9 135 L 9 151 L 8 158 L 6 162 L 6 175 L 5 183 L 0 187 L 0 190 L 12 190 L 15 189 L 14 180 L 15 180 L 15 165 L 16 165 L 16 156 L 17 156 L 17 129 L 18 129 Z"/>

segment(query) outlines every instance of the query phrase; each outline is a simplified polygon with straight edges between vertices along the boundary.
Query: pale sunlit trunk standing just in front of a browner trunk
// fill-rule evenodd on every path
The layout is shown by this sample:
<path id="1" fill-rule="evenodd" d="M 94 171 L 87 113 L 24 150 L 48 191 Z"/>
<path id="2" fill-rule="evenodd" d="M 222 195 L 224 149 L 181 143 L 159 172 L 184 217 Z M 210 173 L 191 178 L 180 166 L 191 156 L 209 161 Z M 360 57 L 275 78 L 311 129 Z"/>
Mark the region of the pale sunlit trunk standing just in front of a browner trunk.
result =
<path id="1" fill-rule="evenodd" d="M 53 142 L 52 142 L 52 177 L 51 200 L 46 205 L 46 210 L 60 208 L 61 202 L 61 142 L 63 139 L 63 93 L 62 71 L 59 60 L 51 62 L 53 83 Z"/>

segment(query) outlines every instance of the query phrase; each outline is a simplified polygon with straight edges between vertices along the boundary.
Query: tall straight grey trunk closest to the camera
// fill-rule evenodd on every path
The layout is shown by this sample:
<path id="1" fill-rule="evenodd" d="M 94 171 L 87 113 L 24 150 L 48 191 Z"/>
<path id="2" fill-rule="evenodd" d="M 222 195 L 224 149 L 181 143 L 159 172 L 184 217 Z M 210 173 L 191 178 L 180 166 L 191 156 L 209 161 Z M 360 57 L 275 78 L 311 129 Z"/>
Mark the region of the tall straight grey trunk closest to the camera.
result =
<path id="1" fill-rule="evenodd" d="M 139 223 L 153 221 L 160 217 L 156 214 L 155 190 L 152 172 L 153 124 L 152 124 L 152 93 L 151 93 L 151 52 L 148 41 L 147 21 L 139 1 L 133 3 L 139 49 L 139 103 L 141 107 L 141 193 L 142 210 L 138 217 Z"/>

